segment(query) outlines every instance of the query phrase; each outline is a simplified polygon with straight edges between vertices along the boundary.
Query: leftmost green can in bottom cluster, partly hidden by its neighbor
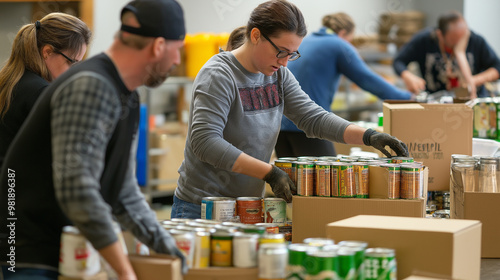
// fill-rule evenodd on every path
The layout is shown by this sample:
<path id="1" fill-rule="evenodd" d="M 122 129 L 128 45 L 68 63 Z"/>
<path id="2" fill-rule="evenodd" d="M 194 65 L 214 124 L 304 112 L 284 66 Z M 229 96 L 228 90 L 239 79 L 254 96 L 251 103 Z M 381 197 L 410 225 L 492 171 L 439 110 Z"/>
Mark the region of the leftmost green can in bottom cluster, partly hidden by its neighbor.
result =
<path id="1" fill-rule="evenodd" d="M 296 243 L 288 245 L 288 266 L 286 268 L 286 279 L 306 279 L 304 262 L 307 259 L 307 253 L 318 250 L 318 247 L 312 247 L 307 244 Z"/>

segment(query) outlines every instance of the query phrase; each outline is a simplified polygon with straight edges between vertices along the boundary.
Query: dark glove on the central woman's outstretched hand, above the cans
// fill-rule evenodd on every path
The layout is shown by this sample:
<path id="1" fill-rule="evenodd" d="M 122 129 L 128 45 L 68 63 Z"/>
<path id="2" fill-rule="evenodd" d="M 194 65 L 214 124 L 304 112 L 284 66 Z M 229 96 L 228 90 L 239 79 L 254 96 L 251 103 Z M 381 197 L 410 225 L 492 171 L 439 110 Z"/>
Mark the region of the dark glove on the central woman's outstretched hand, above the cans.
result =
<path id="1" fill-rule="evenodd" d="M 387 133 L 376 132 L 373 129 L 367 129 L 365 131 L 365 134 L 363 134 L 363 143 L 365 143 L 366 146 L 372 146 L 381 151 L 387 157 L 391 157 L 391 154 L 385 149 L 385 146 L 391 147 L 398 157 L 409 156 L 408 147 L 405 143 L 399 141 L 398 138 L 394 136 Z"/>

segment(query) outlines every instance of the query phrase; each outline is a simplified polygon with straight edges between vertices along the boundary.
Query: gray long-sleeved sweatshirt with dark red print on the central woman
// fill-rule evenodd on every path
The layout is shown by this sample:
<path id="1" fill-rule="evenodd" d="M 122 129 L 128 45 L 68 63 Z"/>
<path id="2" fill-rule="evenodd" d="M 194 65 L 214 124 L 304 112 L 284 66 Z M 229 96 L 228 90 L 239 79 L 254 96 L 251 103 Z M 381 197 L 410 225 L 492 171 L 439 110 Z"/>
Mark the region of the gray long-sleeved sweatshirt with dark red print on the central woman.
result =
<path id="1" fill-rule="evenodd" d="M 175 195 L 196 204 L 207 196 L 262 196 L 262 179 L 231 169 L 242 152 L 269 162 L 283 114 L 308 137 L 341 143 L 350 124 L 314 103 L 287 68 L 266 76 L 230 52 L 212 57 L 194 81 Z"/>

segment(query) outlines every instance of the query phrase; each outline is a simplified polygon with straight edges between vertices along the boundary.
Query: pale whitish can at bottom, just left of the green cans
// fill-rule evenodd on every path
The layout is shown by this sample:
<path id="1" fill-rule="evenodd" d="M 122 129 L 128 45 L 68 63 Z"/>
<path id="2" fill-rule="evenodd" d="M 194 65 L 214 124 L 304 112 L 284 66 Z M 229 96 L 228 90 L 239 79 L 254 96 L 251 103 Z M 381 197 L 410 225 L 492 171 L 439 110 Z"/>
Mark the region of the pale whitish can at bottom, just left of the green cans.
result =
<path id="1" fill-rule="evenodd" d="M 288 264 L 285 244 L 261 244 L 259 247 L 259 279 L 284 279 Z"/>

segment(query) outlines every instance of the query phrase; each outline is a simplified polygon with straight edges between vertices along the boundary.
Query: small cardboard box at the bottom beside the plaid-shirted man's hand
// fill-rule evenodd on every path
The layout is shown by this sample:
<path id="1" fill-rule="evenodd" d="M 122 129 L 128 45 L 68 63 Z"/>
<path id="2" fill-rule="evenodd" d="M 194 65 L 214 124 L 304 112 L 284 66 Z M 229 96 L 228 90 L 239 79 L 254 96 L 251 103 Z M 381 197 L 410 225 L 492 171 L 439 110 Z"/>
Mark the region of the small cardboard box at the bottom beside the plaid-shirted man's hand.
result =
<path id="1" fill-rule="evenodd" d="M 138 280 L 182 280 L 181 260 L 156 254 L 153 256 L 128 256 Z"/>

